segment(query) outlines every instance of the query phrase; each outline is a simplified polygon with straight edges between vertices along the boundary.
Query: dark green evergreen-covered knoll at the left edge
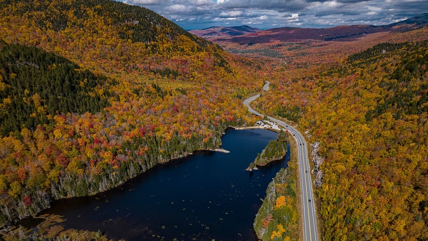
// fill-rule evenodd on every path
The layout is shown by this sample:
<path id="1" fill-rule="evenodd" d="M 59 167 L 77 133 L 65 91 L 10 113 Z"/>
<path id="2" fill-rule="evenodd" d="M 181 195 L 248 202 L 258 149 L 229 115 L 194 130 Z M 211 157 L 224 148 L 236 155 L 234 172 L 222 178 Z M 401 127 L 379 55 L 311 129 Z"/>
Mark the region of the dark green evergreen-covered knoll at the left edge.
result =
<path id="1" fill-rule="evenodd" d="M 99 112 L 107 104 L 104 76 L 95 76 L 36 47 L 1 44 L 0 133 L 35 130 L 58 113 Z"/>

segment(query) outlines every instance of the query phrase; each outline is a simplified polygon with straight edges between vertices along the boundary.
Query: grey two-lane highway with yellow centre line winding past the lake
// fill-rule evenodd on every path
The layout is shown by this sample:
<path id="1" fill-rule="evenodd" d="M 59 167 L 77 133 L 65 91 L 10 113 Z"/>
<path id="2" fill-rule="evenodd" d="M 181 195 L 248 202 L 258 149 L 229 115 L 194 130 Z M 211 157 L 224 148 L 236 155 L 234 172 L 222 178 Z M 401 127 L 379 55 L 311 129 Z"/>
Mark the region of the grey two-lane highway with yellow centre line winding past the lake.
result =
<path id="1" fill-rule="evenodd" d="M 269 81 L 263 86 L 263 90 L 269 90 Z M 260 94 L 256 94 L 253 97 L 250 97 L 244 101 L 244 105 L 248 107 L 248 111 L 264 117 L 264 115 L 258 113 L 250 107 L 250 102 L 260 97 Z M 316 241 L 318 240 L 318 230 L 316 226 L 316 216 L 315 216 L 315 205 L 313 203 L 313 190 L 312 190 L 312 180 L 311 172 L 309 167 L 309 158 L 307 153 L 307 143 L 302 134 L 288 124 L 275 119 L 273 117 L 267 116 L 271 121 L 275 121 L 278 125 L 286 128 L 294 137 L 297 143 L 298 154 L 299 154 L 299 166 L 300 166 L 300 186 L 302 193 L 302 211 L 303 211 L 303 240 Z"/>

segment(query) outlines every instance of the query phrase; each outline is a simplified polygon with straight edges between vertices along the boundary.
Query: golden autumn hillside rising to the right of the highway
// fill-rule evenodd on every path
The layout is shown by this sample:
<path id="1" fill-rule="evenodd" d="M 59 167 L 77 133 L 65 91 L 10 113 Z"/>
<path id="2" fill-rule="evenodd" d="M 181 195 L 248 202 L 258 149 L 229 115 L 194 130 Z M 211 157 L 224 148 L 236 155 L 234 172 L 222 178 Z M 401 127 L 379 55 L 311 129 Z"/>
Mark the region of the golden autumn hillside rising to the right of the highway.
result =
<path id="1" fill-rule="evenodd" d="M 420 39 L 414 42 L 403 41 L 411 33 L 390 34 L 395 41 L 347 58 L 339 58 L 346 47 L 331 61 L 319 52 L 325 63 L 306 62 L 304 71 L 305 57 L 297 57 L 278 67 L 287 76 L 273 72 L 272 90 L 254 103 L 270 114 L 297 110 L 308 141 L 320 142 L 317 154 L 325 160 L 314 173 L 323 240 L 428 238 L 428 35 L 422 32 L 413 32 Z"/>

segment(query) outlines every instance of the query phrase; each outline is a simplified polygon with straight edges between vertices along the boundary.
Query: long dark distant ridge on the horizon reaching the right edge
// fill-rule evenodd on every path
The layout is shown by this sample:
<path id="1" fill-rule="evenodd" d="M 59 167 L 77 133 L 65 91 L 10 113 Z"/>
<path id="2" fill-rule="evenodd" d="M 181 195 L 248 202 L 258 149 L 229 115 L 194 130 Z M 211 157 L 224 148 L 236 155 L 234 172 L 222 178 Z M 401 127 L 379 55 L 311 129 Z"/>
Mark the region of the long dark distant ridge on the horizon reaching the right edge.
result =
<path id="1" fill-rule="evenodd" d="M 377 32 L 404 32 L 412 29 L 428 26 L 428 13 L 414 16 L 397 23 L 374 26 L 374 25 L 350 25 L 332 28 L 273 28 L 242 36 L 229 36 L 217 38 L 216 41 L 229 41 L 240 44 L 266 43 L 272 40 L 299 41 L 305 39 L 321 41 L 348 41 L 363 34 Z"/>

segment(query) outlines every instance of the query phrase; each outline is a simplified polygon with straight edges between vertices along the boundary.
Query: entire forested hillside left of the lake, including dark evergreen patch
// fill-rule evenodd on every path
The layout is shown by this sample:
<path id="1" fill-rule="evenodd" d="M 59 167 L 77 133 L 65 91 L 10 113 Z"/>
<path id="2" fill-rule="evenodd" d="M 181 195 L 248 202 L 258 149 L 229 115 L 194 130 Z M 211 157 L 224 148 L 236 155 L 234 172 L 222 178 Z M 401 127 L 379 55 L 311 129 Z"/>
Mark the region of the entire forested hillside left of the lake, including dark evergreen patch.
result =
<path id="1" fill-rule="evenodd" d="M 2 1 L 0 39 L 0 225 L 218 147 L 262 86 L 253 62 L 115 1 Z"/>

